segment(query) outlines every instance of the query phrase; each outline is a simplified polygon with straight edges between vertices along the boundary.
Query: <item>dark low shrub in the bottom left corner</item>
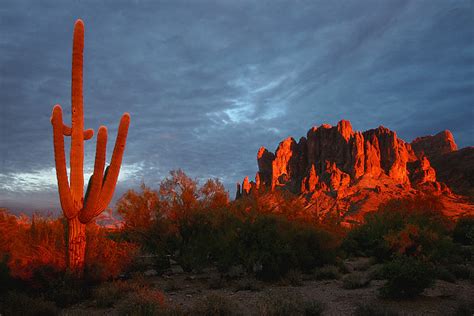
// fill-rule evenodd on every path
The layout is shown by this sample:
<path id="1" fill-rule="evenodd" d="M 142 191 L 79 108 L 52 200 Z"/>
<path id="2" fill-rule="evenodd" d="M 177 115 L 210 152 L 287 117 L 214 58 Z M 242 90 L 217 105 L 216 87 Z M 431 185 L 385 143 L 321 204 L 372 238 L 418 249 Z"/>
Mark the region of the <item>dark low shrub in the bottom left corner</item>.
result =
<path id="1" fill-rule="evenodd" d="M 53 302 L 39 297 L 30 297 L 25 293 L 8 292 L 0 300 L 0 314 L 2 315 L 47 316 L 58 313 L 59 310 Z"/>

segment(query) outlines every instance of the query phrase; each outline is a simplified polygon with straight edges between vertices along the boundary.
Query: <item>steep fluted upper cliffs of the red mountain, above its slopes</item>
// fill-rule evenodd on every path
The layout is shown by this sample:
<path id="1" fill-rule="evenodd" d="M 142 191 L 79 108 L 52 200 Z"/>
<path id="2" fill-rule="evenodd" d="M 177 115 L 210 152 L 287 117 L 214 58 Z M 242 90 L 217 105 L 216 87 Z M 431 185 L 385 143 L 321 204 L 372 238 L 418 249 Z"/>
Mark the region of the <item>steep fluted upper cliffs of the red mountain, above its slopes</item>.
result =
<path id="1" fill-rule="evenodd" d="M 275 154 L 262 147 L 257 162 L 259 188 L 284 187 L 295 193 L 323 187 L 335 193 L 361 178 L 384 178 L 406 187 L 436 182 L 429 159 L 417 157 L 395 132 L 383 126 L 355 132 L 344 120 L 337 126 L 313 127 L 299 142 L 288 137 Z M 324 186 L 318 186 L 321 181 Z"/>

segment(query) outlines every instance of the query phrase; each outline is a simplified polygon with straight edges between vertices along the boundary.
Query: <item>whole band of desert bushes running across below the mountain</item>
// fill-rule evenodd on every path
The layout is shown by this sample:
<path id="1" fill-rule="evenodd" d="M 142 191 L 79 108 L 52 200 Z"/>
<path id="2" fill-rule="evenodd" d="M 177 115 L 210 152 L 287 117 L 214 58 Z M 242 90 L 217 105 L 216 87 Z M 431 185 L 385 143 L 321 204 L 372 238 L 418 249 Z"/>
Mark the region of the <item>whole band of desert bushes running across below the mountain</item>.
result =
<path id="1" fill-rule="evenodd" d="M 282 203 L 277 210 L 268 202 L 272 194 Z M 183 171 L 172 171 L 157 190 L 142 185 L 122 196 L 116 206 L 121 228 L 87 225 L 89 247 L 81 280 L 67 272 L 66 221 L 0 210 L 1 297 L 21 293 L 56 308 L 92 299 L 96 307 L 124 314 L 130 312 L 123 305 L 127 301 L 145 314 L 163 314 L 178 313 L 164 305 L 164 294 L 143 280 L 119 279 L 133 271 L 142 276 L 149 271 L 213 271 L 205 283 L 209 288 L 227 288 L 233 282 L 237 291 L 258 291 L 275 281 L 300 286 L 307 283 L 303 276 L 342 278 L 337 283 L 345 289 L 369 286 L 377 279 L 385 281 L 381 296 L 395 299 L 420 295 L 435 278 L 474 279 L 472 221 L 448 220 L 436 199 L 389 202 L 351 230 L 303 218 L 300 207 L 291 195 L 278 192 L 230 202 L 218 180 L 199 185 Z M 138 264 L 144 258 L 149 262 Z M 174 279 L 162 288 L 168 294 L 185 289 Z M 319 303 L 305 304 L 298 307 L 302 314 L 319 310 Z M 263 306 L 262 313 L 278 314 L 291 306 L 282 300 Z"/>

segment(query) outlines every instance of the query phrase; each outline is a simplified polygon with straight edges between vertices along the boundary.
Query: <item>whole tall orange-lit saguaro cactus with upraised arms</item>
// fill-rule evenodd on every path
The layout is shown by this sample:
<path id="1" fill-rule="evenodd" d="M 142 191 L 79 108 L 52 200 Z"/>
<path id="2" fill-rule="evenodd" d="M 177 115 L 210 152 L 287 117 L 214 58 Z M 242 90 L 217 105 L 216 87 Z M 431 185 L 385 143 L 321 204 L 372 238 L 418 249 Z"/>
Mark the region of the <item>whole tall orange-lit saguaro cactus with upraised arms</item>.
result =
<path id="1" fill-rule="evenodd" d="M 99 215 L 112 199 L 130 124 L 130 115 L 124 113 L 120 120 L 112 160 L 105 173 L 107 128 L 105 126 L 99 127 L 94 173 L 89 180 L 84 197 L 84 141 L 91 139 L 94 131 L 92 129 L 84 130 L 82 96 L 83 50 L 84 23 L 82 20 L 77 20 L 74 25 L 72 52 L 71 127 L 63 123 L 60 105 L 54 106 L 51 117 L 59 198 L 64 216 L 68 221 L 68 266 L 70 270 L 79 275 L 82 274 L 84 269 L 86 249 L 85 224 Z M 66 169 L 64 136 L 71 137 L 70 181 L 68 181 Z"/>

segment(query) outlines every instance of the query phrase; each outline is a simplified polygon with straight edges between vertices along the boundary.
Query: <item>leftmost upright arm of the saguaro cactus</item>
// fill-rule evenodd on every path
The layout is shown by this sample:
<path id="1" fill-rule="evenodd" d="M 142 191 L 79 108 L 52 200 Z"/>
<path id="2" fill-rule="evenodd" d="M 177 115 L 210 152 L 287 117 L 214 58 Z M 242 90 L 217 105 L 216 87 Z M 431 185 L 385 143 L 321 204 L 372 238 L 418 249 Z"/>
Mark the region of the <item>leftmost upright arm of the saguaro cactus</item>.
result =
<path id="1" fill-rule="evenodd" d="M 53 125 L 53 142 L 54 142 L 54 160 L 56 163 L 56 177 L 58 179 L 59 200 L 64 215 L 71 219 L 77 215 L 77 210 L 71 197 L 69 182 L 66 170 L 66 155 L 64 153 L 63 138 L 63 113 L 60 105 L 55 105 L 53 115 L 51 117 Z"/>

